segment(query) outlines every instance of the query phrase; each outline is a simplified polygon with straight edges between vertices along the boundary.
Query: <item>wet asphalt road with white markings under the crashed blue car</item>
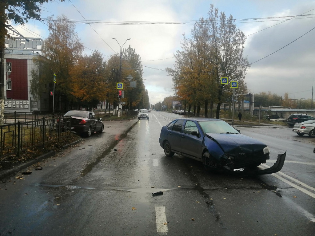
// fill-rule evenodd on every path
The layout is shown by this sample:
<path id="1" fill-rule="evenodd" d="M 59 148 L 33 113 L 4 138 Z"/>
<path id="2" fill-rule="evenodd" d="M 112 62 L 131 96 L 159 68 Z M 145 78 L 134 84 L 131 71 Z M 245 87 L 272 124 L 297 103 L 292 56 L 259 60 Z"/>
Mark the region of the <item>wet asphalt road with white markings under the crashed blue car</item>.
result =
<path id="1" fill-rule="evenodd" d="M 46 160 L 42 171 L 0 183 L 0 235 L 314 235 L 312 140 L 288 127 L 238 127 L 270 146 L 268 166 L 287 150 L 282 171 L 214 174 L 164 155 L 161 126 L 179 116 L 104 121 L 105 133 Z"/>

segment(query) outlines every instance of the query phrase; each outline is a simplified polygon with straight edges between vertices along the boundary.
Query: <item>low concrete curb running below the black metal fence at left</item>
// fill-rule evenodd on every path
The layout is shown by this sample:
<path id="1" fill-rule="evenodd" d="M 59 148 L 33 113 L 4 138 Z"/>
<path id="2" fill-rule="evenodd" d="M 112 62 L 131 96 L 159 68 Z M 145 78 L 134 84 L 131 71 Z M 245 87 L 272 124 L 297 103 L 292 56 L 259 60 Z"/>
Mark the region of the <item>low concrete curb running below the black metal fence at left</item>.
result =
<path id="1" fill-rule="evenodd" d="M 66 144 L 66 145 L 64 145 L 62 147 L 62 149 L 67 149 L 71 145 L 79 143 L 81 140 L 82 140 L 82 138 L 80 138 L 79 140 L 74 141 L 72 143 Z M 37 162 L 39 162 L 39 161 L 41 161 L 43 159 L 49 158 L 49 157 L 51 157 L 51 156 L 53 156 L 55 154 L 56 154 L 56 152 L 54 150 L 51 150 L 48 153 L 45 153 L 45 154 L 43 154 L 41 156 L 38 156 L 38 157 L 34 158 L 33 160 L 30 160 L 28 162 L 25 162 L 25 163 L 22 163 L 22 164 L 20 164 L 18 166 L 15 166 L 12 169 L 0 171 L 0 179 L 3 179 L 4 177 L 7 177 L 7 176 L 9 176 L 11 174 L 14 174 L 14 173 L 16 173 L 18 171 L 21 171 L 21 170 L 25 169 L 26 167 L 29 167 L 29 166 L 31 166 L 31 165 L 33 165 L 33 164 L 35 164 L 35 163 L 37 163 Z"/>

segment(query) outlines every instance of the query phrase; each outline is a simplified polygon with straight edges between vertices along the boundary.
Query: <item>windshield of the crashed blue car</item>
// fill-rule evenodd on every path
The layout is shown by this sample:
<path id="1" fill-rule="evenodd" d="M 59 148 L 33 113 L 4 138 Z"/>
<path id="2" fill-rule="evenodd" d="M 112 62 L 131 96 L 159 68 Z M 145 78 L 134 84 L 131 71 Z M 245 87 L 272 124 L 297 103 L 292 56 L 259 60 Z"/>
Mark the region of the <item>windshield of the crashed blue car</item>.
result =
<path id="1" fill-rule="evenodd" d="M 199 121 L 198 124 L 204 133 L 238 133 L 225 121 Z"/>

